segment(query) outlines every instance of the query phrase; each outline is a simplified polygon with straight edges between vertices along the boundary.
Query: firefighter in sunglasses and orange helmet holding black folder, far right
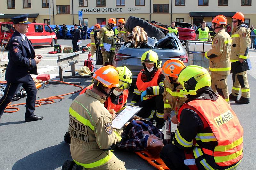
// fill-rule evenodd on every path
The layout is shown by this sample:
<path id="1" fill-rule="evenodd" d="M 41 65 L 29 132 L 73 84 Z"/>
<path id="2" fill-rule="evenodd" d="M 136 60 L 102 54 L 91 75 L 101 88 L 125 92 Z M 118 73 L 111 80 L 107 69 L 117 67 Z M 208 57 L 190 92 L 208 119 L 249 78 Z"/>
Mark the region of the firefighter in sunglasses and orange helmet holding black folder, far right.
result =
<path id="1" fill-rule="evenodd" d="M 250 102 L 250 88 L 246 70 L 249 70 L 249 48 L 250 48 L 250 30 L 244 24 L 244 15 L 237 12 L 232 17 L 232 52 L 230 56 L 231 71 L 233 79 L 232 93 L 229 98 L 235 100 L 235 103 L 246 104 Z M 242 96 L 237 100 L 241 88 Z"/>

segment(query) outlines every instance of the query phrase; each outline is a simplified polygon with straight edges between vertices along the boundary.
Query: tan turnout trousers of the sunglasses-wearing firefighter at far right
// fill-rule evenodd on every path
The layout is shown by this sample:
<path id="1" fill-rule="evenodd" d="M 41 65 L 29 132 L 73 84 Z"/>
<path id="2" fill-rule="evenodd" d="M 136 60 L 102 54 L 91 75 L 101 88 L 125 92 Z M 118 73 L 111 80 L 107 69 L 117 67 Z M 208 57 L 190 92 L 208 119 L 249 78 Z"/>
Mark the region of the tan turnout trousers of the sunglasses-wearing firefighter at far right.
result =
<path id="1" fill-rule="evenodd" d="M 247 78 L 247 72 L 243 71 L 241 73 L 232 74 L 233 79 L 233 87 L 232 87 L 232 95 L 238 96 L 241 88 L 242 97 L 250 98 L 250 88 Z"/>

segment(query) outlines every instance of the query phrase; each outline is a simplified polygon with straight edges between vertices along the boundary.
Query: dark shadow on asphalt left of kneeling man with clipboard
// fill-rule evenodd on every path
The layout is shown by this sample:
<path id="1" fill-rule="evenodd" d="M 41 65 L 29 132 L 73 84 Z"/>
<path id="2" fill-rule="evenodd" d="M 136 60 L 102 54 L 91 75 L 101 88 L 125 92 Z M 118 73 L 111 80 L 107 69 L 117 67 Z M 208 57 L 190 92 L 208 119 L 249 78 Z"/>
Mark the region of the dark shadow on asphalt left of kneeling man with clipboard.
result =
<path id="1" fill-rule="evenodd" d="M 66 160 L 72 160 L 70 146 L 62 141 L 58 145 L 42 149 L 18 160 L 12 170 L 52 170 L 61 167 Z"/>

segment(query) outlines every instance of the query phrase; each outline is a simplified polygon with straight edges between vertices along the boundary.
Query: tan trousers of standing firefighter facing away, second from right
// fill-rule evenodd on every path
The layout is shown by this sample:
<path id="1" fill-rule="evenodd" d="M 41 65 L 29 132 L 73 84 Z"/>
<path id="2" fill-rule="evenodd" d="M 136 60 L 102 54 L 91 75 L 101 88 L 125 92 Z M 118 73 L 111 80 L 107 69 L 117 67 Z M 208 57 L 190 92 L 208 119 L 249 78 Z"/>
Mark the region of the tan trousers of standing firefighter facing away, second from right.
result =
<path id="1" fill-rule="evenodd" d="M 223 97 L 229 103 L 227 75 L 220 75 L 215 72 L 211 72 L 211 80 L 213 91 Z"/>

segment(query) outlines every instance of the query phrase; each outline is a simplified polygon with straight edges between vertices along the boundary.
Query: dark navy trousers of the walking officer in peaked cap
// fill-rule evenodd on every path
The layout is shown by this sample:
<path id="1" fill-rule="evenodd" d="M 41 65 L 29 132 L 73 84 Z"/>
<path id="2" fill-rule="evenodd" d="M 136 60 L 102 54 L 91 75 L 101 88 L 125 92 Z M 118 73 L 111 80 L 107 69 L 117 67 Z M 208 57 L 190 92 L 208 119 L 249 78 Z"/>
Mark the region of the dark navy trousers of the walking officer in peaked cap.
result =
<path id="1" fill-rule="evenodd" d="M 24 83 L 13 83 L 7 81 L 6 88 L 4 90 L 4 96 L 0 99 L 0 117 L 3 115 L 7 104 L 11 102 L 13 96 L 21 86 L 27 92 L 25 118 L 34 115 L 37 90 L 35 83 L 30 76 L 29 80 Z"/>

